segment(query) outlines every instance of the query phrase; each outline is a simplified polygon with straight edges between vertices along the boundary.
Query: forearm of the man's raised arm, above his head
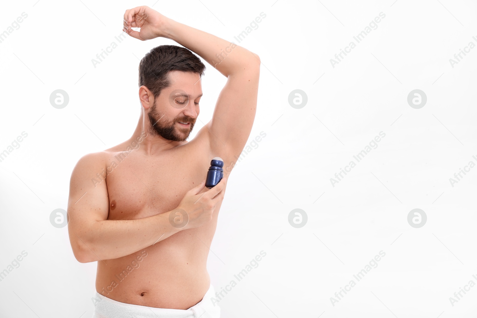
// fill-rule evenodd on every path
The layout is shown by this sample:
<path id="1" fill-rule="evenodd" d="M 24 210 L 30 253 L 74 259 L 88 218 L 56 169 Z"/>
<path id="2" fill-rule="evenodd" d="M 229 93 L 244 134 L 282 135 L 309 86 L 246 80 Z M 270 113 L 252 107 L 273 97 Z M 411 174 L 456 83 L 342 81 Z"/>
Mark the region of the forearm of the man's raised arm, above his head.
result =
<path id="1" fill-rule="evenodd" d="M 239 45 L 169 18 L 165 21 L 164 34 L 168 39 L 200 55 L 226 77 L 243 71 L 250 61 L 259 61 L 257 55 Z"/>

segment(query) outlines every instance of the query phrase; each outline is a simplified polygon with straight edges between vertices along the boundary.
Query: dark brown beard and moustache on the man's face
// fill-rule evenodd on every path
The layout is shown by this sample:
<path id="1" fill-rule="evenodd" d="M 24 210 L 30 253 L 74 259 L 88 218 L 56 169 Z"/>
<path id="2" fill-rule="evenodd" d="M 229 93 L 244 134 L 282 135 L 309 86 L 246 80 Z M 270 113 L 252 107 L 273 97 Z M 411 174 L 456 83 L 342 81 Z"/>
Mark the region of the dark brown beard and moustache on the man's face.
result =
<path id="1" fill-rule="evenodd" d="M 154 105 L 147 116 L 149 117 L 149 123 L 151 123 L 151 127 L 149 128 L 151 135 L 159 135 L 164 139 L 172 141 L 185 141 L 189 137 L 190 133 L 192 132 L 192 128 L 194 128 L 194 124 L 196 123 L 196 120 L 190 117 L 176 118 L 172 121 L 172 123 L 164 123 L 162 115 L 159 116 L 156 111 L 156 101 L 154 101 Z M 179 129 L 176 127 L 176 123 L 178 122 L 190 124 L 188 128 Z M 183 133 L 178 133 L 178 130 L 182 131 Z"/>

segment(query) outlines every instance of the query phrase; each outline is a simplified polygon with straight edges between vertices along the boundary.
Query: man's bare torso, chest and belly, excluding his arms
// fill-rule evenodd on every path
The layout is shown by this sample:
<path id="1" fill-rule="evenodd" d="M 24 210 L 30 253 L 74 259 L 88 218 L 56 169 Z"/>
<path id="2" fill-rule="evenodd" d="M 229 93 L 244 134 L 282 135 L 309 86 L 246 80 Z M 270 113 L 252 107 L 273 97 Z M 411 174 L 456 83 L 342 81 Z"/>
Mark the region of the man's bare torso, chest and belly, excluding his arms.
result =
<path id="1" fill-rule="evenodd" d="M 175 209 L 186 192 L 205 179 L 210 160 L 219 155 L 210 152 L 205 138 L 197 137 L 150 156 L 122 152 L 126 142 L 105 151 L 105 165 L 110 167 L 103 181 L 109 197 L 108 220 L 140 219 Z M 219 209 L 220 204 L 203 226 L 182 230 L 131 255 L 98 261 L 96 291 L 141 306 L 194 306 L 210 284 L 207 256 Z"/>

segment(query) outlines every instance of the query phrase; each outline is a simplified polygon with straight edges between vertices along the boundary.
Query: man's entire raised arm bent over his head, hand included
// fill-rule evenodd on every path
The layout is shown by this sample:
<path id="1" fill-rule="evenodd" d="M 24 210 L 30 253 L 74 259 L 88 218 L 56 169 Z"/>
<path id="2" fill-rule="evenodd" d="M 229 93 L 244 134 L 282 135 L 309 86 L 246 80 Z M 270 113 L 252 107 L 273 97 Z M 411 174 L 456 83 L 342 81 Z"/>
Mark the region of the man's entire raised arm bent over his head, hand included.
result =
<path id="1" fill-rule="evenodd" d="M 147 6 L 126 10 L 124 27 L 136 39 L 147 40 L 160 36 L 174 40 L 201 56 L 227 77 L 212 120 L 204 128 L 208 130 L 212 153 L 220 154 L 226 161 L 232 161 L 234 155 L 239 156 L 255 119 L 259 56 L 215 35 L 169 19 Z M 131 27 L 141 28 L 141 31 L 133 31 Z"/>

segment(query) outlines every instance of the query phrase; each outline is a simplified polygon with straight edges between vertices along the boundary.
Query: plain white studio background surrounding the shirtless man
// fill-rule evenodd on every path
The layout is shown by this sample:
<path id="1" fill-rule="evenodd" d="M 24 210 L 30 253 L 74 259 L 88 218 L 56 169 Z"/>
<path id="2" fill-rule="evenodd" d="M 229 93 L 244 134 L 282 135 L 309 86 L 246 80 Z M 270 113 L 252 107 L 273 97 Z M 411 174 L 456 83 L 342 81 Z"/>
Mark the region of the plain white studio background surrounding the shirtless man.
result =
<path id="1" fill-rule="evenodd" d="M 208 271 L 225 287 L 261 250 L 259 266 L 228 293 L 222 317 L 475 317 L 476 178 L 449 178 L 477 163 L 473 1 L 52 1 L 2 3 L 0 32 L 28 17 L 0 43 L 0 152 L 28 137 L 0 162 L 0 271 L 26 256 L 0 282 L 1 317 L 91 317 L 96 262 L 76 261 L 67 227 L 50 224 L 67 207 L 78 159 L 119 144 L 137 124 L 138 62 L 175 42 L 128 37 L 93 67 L 122 33 L 126 9 L 147 5 L 176 21 L 259 54 L 259 99 L 249 143 L 266 137 L 237 164 L 228 183 Z M 238 43 L 234 36 L 266 14 Z M 353 36 L 380 12 L 363 41 Z M 356 47 L 333 68 L 330 59 Z M 117 41 L 116 41 L 117 43 Z M 204 62 L 204 61 L 203 61 Z M 213 112 L 226 78 L 207 64 L 200 121 Z M 53 108 L 62 89 L 70 102 Z M 290 92 L 306 92 L 301 109 Z M 407 95 L 427 103 L 414 109 Z M 380 132 L 385 137 L 342 181 L 340 172 Z M 190 139 L 189 139 L 190 140 Z M 290 226 L 303 209 L 308 222 Z M 414 228 L 409 211 L 427 222 Z M 385 256 L 339 302 L 330 297 L 375 255 Z"/>

